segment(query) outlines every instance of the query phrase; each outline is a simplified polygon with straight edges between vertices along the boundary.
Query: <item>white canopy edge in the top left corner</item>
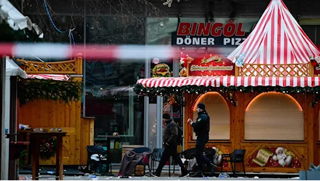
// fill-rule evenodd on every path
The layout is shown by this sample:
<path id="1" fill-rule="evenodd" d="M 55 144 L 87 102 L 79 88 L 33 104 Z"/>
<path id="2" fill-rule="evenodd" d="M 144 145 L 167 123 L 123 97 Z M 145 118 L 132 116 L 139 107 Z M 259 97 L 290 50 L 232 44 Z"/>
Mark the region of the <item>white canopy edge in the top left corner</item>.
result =
<path id="1" fill-rule="evenodd" d="M 33 24 L 29 17 L 22 15 L 8 0 L 0 0 L 0 22 L 4 19 L 13 30 L 32 29 L 39 38 L 43 38 L 43 33 L 38 25 Z"/>

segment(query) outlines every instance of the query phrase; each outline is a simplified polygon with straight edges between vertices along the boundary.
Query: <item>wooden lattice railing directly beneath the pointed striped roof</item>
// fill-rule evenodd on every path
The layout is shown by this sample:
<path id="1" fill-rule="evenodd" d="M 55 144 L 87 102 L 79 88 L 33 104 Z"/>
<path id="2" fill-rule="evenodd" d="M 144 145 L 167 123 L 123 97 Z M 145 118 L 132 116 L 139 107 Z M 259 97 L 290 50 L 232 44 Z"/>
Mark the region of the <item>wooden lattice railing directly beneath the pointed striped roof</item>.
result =
<path id="1" fill-rule="evenodd" d="M 244 64 L 239 68 L 236 76 L 262 76 L 262 77 L 303 77 L 314 76 L 313 67 L 310 63 L 305 64 Z"/>

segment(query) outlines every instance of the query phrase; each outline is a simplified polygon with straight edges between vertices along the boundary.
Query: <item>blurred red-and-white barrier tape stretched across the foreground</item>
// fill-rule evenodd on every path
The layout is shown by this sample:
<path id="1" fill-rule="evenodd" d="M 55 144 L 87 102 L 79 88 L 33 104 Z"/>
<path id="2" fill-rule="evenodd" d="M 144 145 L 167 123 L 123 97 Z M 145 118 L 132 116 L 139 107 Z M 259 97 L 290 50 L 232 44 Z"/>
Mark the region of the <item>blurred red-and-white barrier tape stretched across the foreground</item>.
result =
<path id="1" fill-rule="evenodd" d="M 0 55 L 19 58 L 70 59 L 81 54 L 83 58 L 96 61 L 145 61 L 159 58 L 161 62 L 179 60 L 181 52 L 191 57 L 206 53 L 230 54 L 234 47 L 182 47 L 172 45 L 76 45 L 61 43 L 0 43 Z"/>

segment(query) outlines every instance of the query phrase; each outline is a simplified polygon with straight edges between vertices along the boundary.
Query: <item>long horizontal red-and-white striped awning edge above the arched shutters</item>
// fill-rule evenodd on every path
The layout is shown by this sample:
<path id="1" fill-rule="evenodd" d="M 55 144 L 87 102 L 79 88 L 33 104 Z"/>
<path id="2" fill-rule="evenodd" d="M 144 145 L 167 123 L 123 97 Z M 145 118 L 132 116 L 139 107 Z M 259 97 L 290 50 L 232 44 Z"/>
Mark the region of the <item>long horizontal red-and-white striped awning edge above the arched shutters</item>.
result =
<path id="1" fill-rule="evenodd" d="M 182 86 L 290 86 L 315 87 L 320 85 L 319 77 L 157 77 L 139 79 L 137 84 L 145 88 Z"/>

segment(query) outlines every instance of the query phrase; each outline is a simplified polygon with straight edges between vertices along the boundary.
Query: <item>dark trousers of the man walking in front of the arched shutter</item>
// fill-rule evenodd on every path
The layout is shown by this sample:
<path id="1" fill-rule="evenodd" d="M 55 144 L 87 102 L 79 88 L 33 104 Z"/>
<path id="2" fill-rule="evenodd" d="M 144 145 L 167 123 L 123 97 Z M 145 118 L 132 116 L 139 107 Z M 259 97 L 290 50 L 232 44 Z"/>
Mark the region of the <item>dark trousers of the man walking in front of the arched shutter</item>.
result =
<path id="1" fill-rule="evenodd" d="M 197 159 L 198 171 L 203 171 L 203 164 L 207 164 L 207 166 L 211 166 L 210 159 L 208 159 L 205 152 L 205 144 L 209 140 L 209 135 L 206 136 L 198 136 L 197 142 L 195 143 L 195 159 Z"/>

